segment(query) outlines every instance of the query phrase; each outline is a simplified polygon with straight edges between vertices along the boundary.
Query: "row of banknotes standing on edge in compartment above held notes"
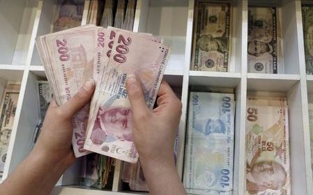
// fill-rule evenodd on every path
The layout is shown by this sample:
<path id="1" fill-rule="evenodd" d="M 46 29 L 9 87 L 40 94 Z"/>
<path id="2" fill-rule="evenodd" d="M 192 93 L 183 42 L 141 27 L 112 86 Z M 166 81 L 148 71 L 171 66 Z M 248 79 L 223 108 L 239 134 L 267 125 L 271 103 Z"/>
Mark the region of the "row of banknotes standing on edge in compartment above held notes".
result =
<path id="1" fill-rule="evenodd" d="M 114 26 L 132 31 L 136 0 L 92 0 L 89 4 L 87 24 L 107 28 Z"/>

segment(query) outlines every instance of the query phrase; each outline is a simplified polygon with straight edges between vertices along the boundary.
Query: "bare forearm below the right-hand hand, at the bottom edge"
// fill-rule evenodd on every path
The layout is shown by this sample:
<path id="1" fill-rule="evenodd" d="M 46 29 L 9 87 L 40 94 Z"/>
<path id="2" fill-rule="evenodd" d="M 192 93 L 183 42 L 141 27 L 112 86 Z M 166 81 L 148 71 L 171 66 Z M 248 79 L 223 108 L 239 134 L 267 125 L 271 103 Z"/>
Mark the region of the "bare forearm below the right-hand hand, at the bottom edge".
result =
<path id="1" fill-rule="evenodd" d="M 174 159 L 172 162 L 142 162 L 142 169 L 150 194 L 185 194 L 185 189 L 176 171 Z"/>

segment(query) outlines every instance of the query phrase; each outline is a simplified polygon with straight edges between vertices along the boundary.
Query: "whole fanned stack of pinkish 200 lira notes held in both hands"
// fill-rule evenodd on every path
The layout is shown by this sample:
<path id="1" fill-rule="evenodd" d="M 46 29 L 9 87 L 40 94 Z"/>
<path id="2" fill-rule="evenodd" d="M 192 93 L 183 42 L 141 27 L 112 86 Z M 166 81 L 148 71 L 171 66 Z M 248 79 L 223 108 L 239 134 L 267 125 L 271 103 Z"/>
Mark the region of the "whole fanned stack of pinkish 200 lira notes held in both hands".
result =
<path id="1" fill-rule="evenodd" d="M 169 47 L 148 34 L 93 25 L 40 36 L 36 45 L 57 104 L 70 100 L 90 78 L 96 82 L 91 103 L 72 120 L 75 156 L 95 152 L 137 162 L 126 80 L 139 78 L 152 109 Z"/>

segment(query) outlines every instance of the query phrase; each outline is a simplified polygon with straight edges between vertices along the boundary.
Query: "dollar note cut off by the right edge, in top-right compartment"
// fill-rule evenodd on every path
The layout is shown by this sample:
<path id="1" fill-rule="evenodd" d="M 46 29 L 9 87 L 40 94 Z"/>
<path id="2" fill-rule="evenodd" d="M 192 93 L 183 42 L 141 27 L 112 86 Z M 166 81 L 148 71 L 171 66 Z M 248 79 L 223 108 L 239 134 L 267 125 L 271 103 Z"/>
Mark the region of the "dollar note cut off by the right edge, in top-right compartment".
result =
<path id="1" fill-rule="evenodd" d="M 307 74 L 313 75 L 313 5 L 302 7 L 305 65 Z"/>

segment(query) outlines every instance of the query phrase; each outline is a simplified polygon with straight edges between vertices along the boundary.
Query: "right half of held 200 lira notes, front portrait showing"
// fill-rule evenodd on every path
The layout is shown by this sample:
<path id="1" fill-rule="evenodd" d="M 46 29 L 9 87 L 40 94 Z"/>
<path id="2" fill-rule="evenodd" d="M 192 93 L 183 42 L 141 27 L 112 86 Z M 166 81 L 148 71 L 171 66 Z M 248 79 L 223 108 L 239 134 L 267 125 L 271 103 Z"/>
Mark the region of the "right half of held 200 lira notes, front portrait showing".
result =
<path id="1" fill-rule="evenodd" d="M 123 30 L 114 32 L 110 45 L 107 71 L 99 87 L 101 95 L 97 95 L 96 89 L 91 100 L 96 109 L 89 116 L 91 125 L 86 132 L 84 149 L 135 163 L 138 153 L 132 139 L 132 115 L 125 81 L 129 75 L 139 78 L 146 104 L 152 109 L 170 51 L 152 36 Z"/>

